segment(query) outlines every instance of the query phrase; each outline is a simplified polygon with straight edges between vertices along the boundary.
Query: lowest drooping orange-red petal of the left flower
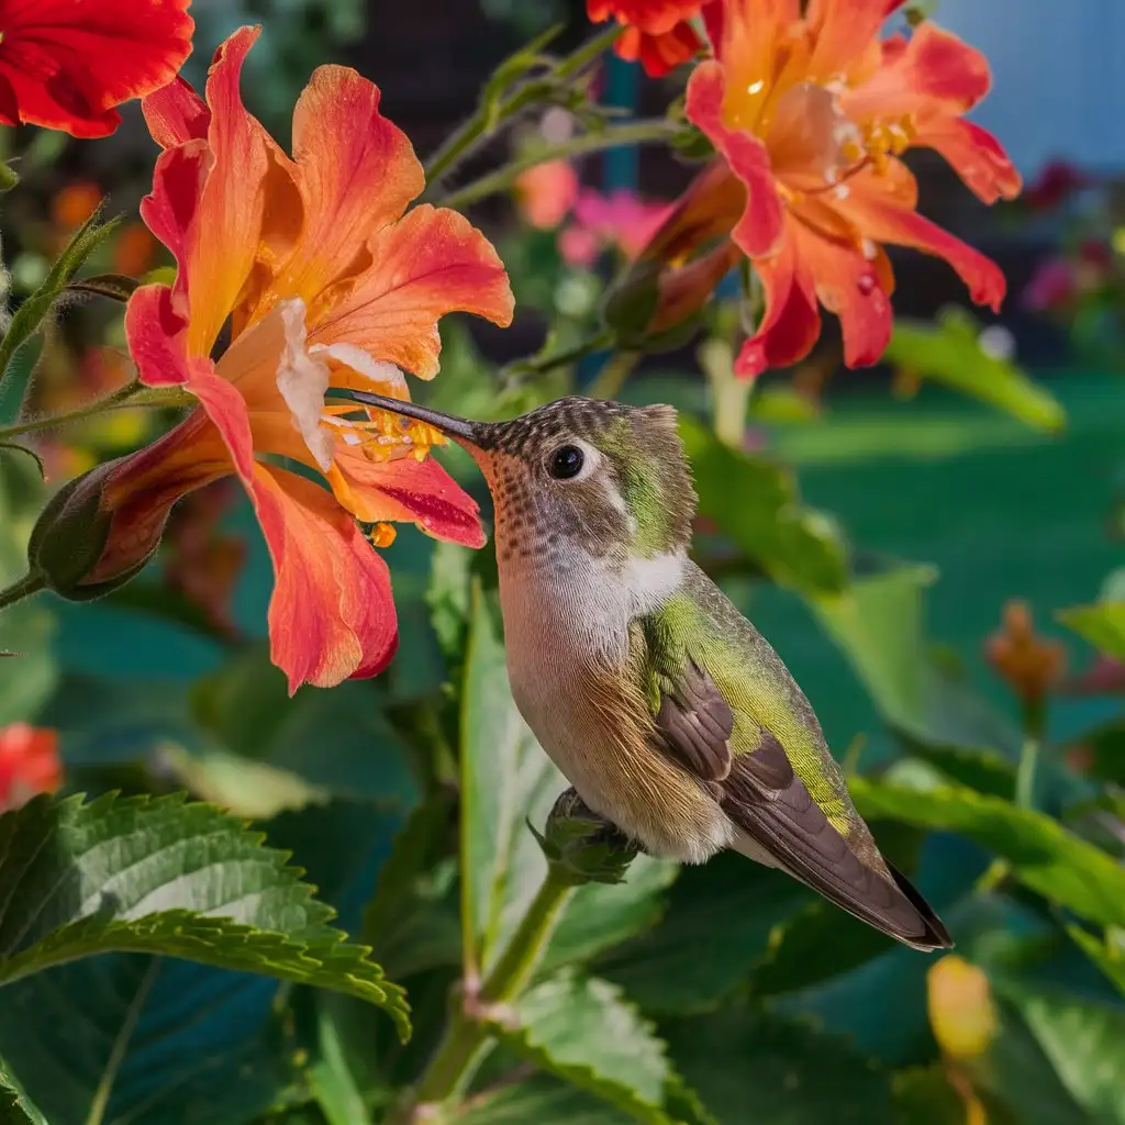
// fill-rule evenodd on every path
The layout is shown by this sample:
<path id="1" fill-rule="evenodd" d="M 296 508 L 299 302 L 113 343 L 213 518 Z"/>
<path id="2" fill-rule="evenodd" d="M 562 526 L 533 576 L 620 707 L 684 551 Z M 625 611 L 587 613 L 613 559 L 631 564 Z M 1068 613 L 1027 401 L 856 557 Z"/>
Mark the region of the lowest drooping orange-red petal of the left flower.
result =
<path id="1" fill-rule="evenodd" d="M 277 576 L 270 656 L 289 693 L 381 672 L 398 639 L 387 564 L 332 494 L 303 477 L 258 465 L 251 496 Z"/>

